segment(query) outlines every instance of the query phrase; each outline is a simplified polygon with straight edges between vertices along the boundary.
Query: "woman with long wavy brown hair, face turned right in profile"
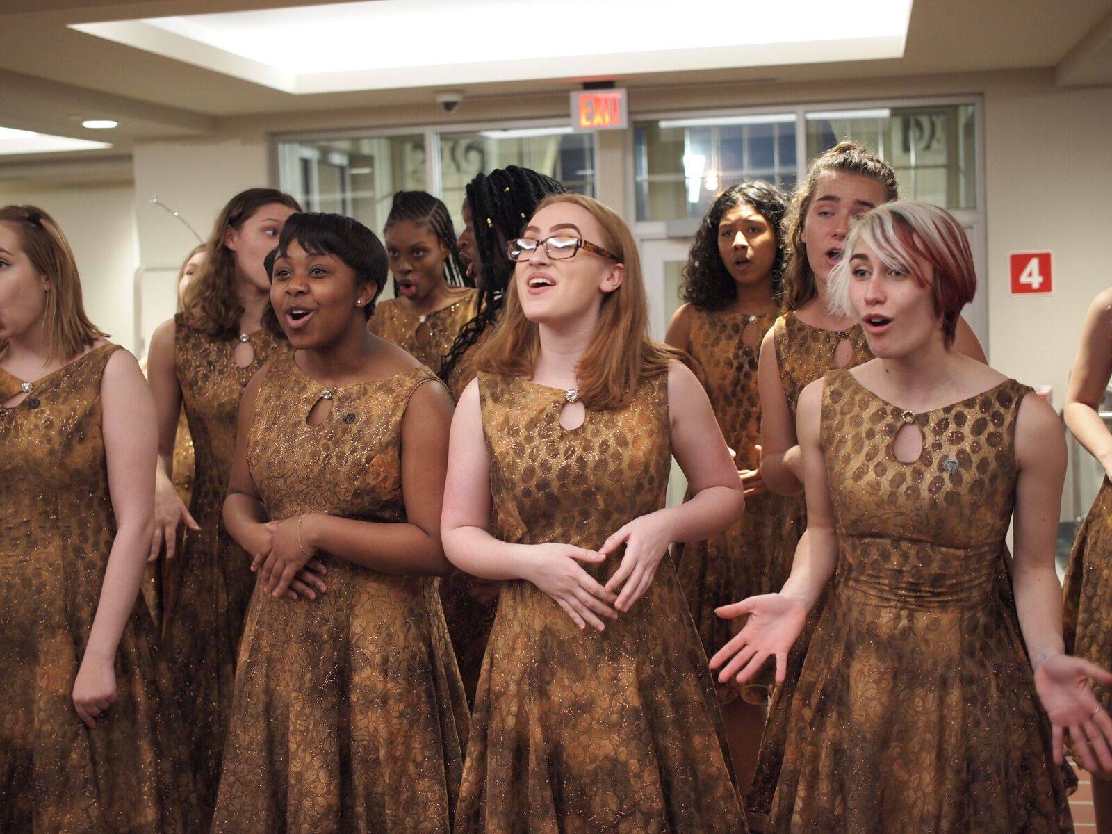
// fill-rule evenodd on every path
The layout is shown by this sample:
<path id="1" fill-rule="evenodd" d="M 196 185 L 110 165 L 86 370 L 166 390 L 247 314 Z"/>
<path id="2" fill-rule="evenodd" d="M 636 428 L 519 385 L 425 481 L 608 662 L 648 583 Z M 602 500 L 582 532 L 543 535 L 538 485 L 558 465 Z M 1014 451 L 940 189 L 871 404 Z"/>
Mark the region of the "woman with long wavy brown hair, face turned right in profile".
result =
<path id="1" fill-rule="evenodd" d="M 297 209 L 292 197 L 269 188 L 232 197 L 186 289 L 182 312 L 155 330 L 148 356 L 160 458 L 151 555 L 166 546 L 162 652 L 173 698 L 187 722 L 197 802 L 206 821 L 216 802 L 239 635 L 255 584 L 250 558 L 228 536 L 220 506 L 244 387 L 262 365 L 289 349 L 262 327 L 270 290 L 262 261 Z M 182 406 L 196 459 L 188 509 L 171 480 Z M 188 527 L 183 546 L 178 540 L 181 526 Z"/>

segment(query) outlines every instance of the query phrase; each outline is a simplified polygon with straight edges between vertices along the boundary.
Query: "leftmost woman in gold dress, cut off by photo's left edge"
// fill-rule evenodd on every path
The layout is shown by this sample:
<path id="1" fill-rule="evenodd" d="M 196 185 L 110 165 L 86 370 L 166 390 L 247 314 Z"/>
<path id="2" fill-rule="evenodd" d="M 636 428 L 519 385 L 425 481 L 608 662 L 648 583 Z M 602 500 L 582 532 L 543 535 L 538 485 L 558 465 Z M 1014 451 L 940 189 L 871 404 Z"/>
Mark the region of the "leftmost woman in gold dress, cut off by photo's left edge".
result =
<path id="1" fill-rule="evenodd" d="M 142 371 L 86 317 L 62 232 L 0 209 L 6 834 L 192 831 L 139 597 L 156 448 Z"/>

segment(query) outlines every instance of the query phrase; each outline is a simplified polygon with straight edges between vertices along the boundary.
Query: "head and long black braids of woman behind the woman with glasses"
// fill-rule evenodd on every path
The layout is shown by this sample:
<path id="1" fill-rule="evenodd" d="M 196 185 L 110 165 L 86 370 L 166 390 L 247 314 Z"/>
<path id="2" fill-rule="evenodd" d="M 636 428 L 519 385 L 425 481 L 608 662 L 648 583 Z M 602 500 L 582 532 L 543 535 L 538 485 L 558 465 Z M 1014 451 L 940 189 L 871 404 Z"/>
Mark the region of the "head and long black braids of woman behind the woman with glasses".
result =
<path id="1" fill-rule="evenodd" d="M 505 257 L 506 242 L 520 232 L 540 200 L 565 190 L 552 177 L 514 165 L 480 173 L 467 183 L 459 254 L 480 297 L 478 314 L 459 331 L 440 368 L 440 378 L 456 399 L 475 378 L 466 355 L 497 320 L 502 294 L 514 274 Z"/>

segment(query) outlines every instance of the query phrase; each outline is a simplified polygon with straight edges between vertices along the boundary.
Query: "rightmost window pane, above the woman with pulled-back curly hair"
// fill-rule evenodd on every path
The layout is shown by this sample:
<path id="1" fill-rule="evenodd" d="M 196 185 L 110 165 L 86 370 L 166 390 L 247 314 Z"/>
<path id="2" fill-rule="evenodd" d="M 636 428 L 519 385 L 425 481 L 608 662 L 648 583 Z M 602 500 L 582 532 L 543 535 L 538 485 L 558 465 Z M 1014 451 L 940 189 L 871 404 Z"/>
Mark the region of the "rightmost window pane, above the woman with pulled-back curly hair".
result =
<path id="1" fill-rule="evenodd" d="M 892 166 L 900 196 L 949 209 L 976 208 L 973 105 L 807 113 L 807 158 L 854 139 Z"/>

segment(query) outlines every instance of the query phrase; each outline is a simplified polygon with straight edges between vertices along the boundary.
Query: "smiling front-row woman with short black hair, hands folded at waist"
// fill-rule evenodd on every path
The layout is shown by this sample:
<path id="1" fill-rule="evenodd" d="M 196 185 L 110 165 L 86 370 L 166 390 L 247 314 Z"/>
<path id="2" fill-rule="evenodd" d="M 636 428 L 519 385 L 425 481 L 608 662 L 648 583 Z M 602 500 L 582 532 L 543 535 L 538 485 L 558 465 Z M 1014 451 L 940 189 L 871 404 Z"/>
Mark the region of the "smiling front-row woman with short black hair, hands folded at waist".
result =
<path id="1" fill-rule="evenodd" d="M 244 394 L 225 519 L 255 554 L 214 820 L 227 834 L 450 830 L 467 705 L 436 593 L 451 398 L 367 330 L 386 252 L 289 218 Z"/>

